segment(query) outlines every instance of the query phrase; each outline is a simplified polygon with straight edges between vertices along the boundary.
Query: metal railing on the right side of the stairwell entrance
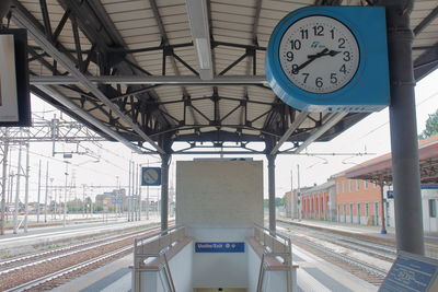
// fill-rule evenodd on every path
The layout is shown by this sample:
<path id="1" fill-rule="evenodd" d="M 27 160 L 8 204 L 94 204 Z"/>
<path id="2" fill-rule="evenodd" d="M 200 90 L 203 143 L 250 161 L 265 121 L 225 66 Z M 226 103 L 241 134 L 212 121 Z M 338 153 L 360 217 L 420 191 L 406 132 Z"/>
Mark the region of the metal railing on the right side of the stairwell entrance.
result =
<path id="1" fill-rule="evenodd" d="M 292 284 L 292 248 L 290 238 L 257 224 L 254 225 L 254 237 L 263 246 L 257 292 L 263 291 L 264 277 L 267 270 L 267 257 L 276 258 L 284 265 L 287 292 L 291 292 L 295 284 Z"/>

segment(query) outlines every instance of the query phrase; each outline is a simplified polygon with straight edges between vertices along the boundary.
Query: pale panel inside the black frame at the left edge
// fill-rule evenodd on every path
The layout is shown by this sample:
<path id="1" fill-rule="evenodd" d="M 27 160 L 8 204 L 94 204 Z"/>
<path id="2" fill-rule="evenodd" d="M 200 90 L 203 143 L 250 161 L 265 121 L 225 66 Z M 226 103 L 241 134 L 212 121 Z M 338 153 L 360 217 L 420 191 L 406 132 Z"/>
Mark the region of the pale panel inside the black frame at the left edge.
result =
<path id="1" fill-rule="evenodd" d="M 0 35 L 0 121 L 19 121 L 13 35 Z"/>

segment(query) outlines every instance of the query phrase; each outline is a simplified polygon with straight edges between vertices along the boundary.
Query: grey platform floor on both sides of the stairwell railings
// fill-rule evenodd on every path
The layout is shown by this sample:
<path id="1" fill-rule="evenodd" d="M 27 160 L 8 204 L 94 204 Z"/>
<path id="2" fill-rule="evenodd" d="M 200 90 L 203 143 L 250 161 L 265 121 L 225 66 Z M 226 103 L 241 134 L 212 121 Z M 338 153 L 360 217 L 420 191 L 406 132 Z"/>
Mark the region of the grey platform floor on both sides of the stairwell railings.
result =
<path id="1" fill-rule="evenodd" d="M 298 246 L 292 246 L 293 261 L 299 265 L 297 272 L 299 291 L 304 292 L 353 292 L 377 291 L 372 285 L 324 259 Z M 128 267 L 132 255 L 125 256 L 107 266 L 83 275 L 53 290 L 56 292 L 126 292 L 131 290 L 131 273 Z"/>

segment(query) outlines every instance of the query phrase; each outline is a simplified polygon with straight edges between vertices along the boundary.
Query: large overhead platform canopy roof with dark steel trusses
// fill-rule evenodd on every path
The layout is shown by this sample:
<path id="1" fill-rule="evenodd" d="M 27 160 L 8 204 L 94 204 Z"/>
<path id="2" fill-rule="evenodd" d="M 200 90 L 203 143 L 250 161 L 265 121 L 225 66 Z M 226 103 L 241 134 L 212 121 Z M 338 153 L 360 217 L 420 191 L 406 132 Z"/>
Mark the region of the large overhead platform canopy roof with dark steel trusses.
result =
<path id="1" fill-rule="evenodd" d="M 257 141 L 270 145 L 263 153 L 298 153 L 367 114 L 285 105 L 264 77 L 270 33 L 302 7 L 370 2 L 12 0 L 10 27 L 27 28 L 32 92 L 108 140 L 149 153 L 178 141 L 187 148 L 174 153 L 261 153 Z M 411 15 L 417 81 L 438 65 L 437 7 L 415 1 Z"/>

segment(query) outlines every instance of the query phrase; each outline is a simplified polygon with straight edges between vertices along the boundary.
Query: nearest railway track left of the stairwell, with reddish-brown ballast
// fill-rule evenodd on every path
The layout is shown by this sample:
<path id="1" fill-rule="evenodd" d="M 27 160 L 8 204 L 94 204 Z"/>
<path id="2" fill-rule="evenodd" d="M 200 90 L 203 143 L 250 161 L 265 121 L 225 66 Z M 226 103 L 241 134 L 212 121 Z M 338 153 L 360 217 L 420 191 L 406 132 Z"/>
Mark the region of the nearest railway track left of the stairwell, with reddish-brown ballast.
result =
<path id="1" fill-rule="evenodd" d="M 129 254 L 135 237 L 157 233 L 159 230 L 159 226 L 150 227 L 2 261 L 0 291 L 50 290 L 68 279 Z"/>

